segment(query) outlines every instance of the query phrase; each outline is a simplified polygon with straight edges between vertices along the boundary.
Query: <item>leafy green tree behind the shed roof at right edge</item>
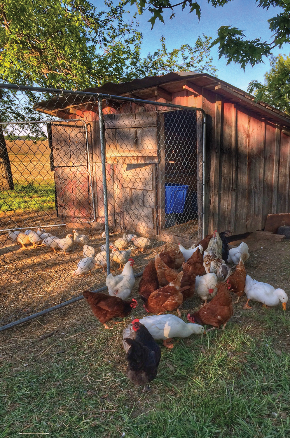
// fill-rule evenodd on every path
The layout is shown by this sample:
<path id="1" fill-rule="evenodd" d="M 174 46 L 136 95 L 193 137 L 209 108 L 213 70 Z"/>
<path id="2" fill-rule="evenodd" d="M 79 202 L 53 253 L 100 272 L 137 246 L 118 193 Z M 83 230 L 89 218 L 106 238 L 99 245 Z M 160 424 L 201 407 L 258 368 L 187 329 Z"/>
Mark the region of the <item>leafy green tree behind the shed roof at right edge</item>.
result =
<path id="1" fill-rule="evenodd" d="M 264 84 L 251 81 L 248 92 L 254 94 L 257 100 L 290 114 L 290 57 L 283 56 L 271 58 L 271 70 L 266 72 Z"/>

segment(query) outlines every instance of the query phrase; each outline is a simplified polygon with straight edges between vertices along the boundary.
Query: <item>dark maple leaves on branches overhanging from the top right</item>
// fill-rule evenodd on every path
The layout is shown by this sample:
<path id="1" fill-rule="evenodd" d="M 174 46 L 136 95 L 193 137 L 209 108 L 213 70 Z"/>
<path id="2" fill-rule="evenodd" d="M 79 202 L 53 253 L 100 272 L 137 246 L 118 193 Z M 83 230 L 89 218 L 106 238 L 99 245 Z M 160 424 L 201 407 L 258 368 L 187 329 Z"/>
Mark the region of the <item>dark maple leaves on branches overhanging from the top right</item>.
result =
<path id="1" fill-rule="evenodd" d="M 213 7 L 223 7 L 233 0 L 207 0 Z M 189 13 L 195 12 L 198 19 L 201 17 L 200 5 L 193 0 L 183 0 L 175 2 L 171 0 L 126 0 L 131 5 L 136 4 L 139 14 L 145 10 L 151 13 L 150 23 L 152 28 L 158 19 L 164 23 L 163 14 L 166 10 L 171 10 L 170 19 L 175 17 L 175 8 L 182 6 L 182 10 L 189 8 Z M 219 58 L 225 57 L 227 64 L 231 61 L 240 64 L 245 69 L 247 64 L 254 66 L 262 61 L 263 56 L 269 57 L 271 50 L 279 46 L 281 48 L 285 42 L 290 42 L 290 0 L 255 0 L 258 7 L 269 9 L 269 7 L 280 7 L 283 11 L 276 17 L 270 18 L 269 29 L 272 31 L 273 39 L 271 42 L 261 41 L 261 38 L 252 40 L 246 39 L 243 31 L 235 27 L 221 26 L 217 30 L 218 37 L 211 47 L 218 44 Z"/>

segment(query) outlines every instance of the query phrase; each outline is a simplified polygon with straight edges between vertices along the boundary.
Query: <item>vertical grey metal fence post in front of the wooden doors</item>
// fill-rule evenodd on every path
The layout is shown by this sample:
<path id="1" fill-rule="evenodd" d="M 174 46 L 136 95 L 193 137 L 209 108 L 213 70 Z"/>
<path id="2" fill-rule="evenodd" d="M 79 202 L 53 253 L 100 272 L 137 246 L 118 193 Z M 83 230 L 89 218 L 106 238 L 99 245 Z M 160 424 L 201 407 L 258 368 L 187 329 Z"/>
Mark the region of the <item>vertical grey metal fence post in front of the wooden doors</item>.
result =
<path id="1" fill-rule="evenodd" d="M 99 110 L 99 127 L 101 138 L 101 163 L 103 175 L 103 191 L 104 191 L 104 213 L 105 213 L 105 234 L 106 234 L 106 259 L 107 259 L 107 275 L 110 274 L 110 248 L 109 248 L 109 220 L 108 220 L 108 192 L 107 192 L 107 175 L 106 175 L 106 155 L 105 155 L 105 129 L 102 109 L 102 99 L 98 98 Z"/>

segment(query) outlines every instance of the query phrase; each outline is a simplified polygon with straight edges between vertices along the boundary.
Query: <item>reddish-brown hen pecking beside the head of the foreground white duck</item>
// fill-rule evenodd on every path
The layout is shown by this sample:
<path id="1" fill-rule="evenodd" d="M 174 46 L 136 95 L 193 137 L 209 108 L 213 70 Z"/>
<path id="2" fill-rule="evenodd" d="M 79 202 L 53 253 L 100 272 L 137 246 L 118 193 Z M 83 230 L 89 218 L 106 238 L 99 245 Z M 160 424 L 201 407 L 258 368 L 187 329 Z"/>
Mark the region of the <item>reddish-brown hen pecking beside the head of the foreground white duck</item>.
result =
<path id="1" fill-rule="evenodd" d="M 213 325 L 213 327 L 218 328 L 223 325 L 224 329 L 227 321 L 234 314 L 231 294 L 228 291 L 230 286 L 228 283 L 220 283 L 217 288 L 217 295 L 209 303 L 199 311 L 187 315 L 189 322 Z"/>

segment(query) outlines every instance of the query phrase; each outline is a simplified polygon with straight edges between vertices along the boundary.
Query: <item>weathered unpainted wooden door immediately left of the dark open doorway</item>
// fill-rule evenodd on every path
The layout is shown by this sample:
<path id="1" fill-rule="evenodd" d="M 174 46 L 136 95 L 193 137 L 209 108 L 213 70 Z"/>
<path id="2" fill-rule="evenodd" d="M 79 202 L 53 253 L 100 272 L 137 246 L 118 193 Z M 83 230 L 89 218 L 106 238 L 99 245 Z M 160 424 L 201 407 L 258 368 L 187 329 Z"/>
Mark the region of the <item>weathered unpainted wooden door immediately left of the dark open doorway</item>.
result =
<path id="1" fill-rule="evenodd" d="M 114 165 L 115 221 L 125 230 L 157 234 L 158 113 L 106 114 L 106 158 Z"/>

